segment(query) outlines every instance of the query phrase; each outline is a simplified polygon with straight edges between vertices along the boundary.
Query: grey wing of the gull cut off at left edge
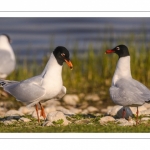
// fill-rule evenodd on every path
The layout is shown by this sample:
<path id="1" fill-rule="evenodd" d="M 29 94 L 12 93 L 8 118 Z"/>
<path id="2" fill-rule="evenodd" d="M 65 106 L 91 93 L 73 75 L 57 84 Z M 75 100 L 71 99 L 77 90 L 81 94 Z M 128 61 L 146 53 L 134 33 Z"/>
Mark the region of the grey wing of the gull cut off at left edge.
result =
<path id="1" fill-rule="evenodd" d="M 0 50 L 0 73 L 9 74 L 15 69 L 16 61 L 9 52 Z"/>

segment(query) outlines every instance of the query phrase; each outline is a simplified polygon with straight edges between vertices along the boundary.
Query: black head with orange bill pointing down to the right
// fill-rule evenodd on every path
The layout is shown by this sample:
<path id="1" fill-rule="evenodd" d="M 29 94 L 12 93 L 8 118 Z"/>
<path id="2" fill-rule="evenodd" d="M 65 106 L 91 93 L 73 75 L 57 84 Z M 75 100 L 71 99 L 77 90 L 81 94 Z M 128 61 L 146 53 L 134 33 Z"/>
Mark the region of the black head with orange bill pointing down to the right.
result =
<path id="1" fill-rule="evenodd" d="M 70 69 L 73 68 L 73 65 L 69 59 L 69 51 L 65 47 L 63 46 L 56 47 L 55 50 L 53 51 L 53 54 L 59 65 L 63 65 L 63 62 L 66 62 L 67 65 L 70 67 Z"/>

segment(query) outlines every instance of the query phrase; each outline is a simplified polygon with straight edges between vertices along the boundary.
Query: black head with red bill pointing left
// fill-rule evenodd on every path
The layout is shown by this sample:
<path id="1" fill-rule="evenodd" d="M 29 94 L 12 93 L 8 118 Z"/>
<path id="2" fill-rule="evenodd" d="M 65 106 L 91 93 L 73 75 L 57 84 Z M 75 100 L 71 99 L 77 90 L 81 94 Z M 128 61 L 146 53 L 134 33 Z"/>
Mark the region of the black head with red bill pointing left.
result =
<path id="1" fill-rule="evenodd" d="M 128 48 L 125 45 L 118 45 L 115 48 L 106 51 L 106 54 L 110 53 L 116 53 L 119 56 L 119 58 L 130 56 Z"/>

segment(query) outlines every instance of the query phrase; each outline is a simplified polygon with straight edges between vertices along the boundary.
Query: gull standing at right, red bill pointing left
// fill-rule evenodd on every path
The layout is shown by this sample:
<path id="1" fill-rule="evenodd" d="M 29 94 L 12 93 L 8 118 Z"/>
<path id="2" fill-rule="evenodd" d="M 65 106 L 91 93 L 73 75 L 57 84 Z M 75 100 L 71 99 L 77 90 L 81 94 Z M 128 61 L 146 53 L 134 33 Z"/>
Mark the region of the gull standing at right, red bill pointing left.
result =
<path id="1" fill-rule="evenodd" d="M 119 56 L 116 70 L 109 89 L 113 102 L 123 106 L 123 118 L 125 117 L 125 107 L 137 107 L 145 102 L 150 102 L 150 90 L 142 83 L 134 80 L 130 70 L 130 54 L 125 45 L 118 45 L 113 49 L 106 50 L 106 54 L 116 53 Z"/>

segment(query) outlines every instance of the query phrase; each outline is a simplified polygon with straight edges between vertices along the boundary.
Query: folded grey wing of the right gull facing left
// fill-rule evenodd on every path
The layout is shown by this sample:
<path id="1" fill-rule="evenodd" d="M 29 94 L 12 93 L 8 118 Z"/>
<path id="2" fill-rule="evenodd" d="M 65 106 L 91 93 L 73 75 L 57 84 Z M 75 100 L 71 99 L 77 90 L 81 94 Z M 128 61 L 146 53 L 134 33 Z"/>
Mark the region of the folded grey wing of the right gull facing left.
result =
<path id="1" fill-rule="evenodd" d="M 150 91 L 134 79 L 120 79 L 110 88 L 112 100 L 122 106 L 142 105 L 150 98 Z"/>

